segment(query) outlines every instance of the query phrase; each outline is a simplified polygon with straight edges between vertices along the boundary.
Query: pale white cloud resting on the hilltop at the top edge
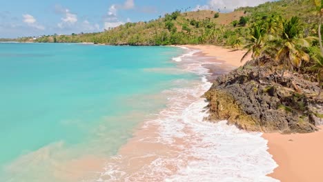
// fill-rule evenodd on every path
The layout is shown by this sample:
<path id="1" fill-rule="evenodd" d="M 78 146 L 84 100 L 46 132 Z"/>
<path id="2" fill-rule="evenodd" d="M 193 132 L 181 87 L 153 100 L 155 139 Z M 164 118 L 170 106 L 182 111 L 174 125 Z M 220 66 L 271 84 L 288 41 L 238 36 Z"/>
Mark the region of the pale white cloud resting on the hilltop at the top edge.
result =
<path id="1" fill-rule="evenodd" d="M 228 10 L 232 11 L 235 8 L 245 7 L 245 6 L 258 6 L 261 3 L 266 3 L 267 1 L 274 0 L 210 0 L 207 5 L 196 6 L 193 10 Z"/>

